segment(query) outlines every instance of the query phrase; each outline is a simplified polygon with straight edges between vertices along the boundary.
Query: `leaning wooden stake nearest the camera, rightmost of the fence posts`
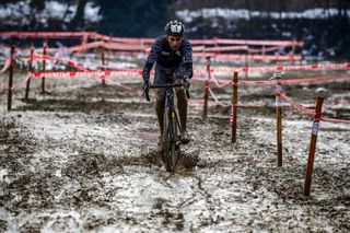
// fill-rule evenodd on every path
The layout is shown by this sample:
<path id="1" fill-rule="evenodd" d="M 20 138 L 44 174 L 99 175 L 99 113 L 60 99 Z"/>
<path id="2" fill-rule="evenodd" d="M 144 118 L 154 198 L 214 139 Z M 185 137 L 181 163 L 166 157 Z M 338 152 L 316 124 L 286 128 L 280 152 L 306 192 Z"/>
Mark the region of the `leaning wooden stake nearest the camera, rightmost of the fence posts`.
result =
<path id="1" fill-rule="evenodd" d="M 311 188 L 313 170 L 314 170 L 316 141 L 317 141 L 317 133 L 318 133 L 318 128 L 319 128 L 319 120 L 320 120 L 320 112 L 322 112 L 323 102 L 324 102 L 324 97 L 318 96 L 317 104 L 316 104 L 315 119 L 314 119 L 313 129 L 311 132 L 311 142 L 310 142 L 307 168 L 306 168 L 306 176 L 305 176 L 304 196 L 310 196 L 310 188 Z"/>

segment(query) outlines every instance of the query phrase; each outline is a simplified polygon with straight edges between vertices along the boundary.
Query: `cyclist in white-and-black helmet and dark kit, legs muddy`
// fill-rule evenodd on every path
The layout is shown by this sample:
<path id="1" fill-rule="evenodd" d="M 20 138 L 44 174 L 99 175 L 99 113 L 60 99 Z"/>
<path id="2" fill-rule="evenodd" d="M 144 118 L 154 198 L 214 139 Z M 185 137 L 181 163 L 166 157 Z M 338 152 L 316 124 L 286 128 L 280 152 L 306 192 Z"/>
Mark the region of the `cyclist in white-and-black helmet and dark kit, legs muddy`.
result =
<path id="1" fill-rule="evenodd" d="M 149 91 L 150 71 L 155 63 L 154 84 L 178 83 L 183 80 L 189 88 L 189 79 L 192 77 L 192 49 L 190 43 L 184 38 L 185 26 L 179 21 L 170 21 L 165 26 L 165 35 L 156 38 L 145 61 L 142 78 L 143 90 Z M 177 96 L 177 109 L 180 121 L 180 139 L 188 143 L 190 138 L 187 132 L 187 97 L 183 88 L 175 90 Z M 163 151 L 163 115 L 165 107 L 165 90 L 156 91 L 155 113 L 161 129 L 158 143 L 159 152 Z"/>

